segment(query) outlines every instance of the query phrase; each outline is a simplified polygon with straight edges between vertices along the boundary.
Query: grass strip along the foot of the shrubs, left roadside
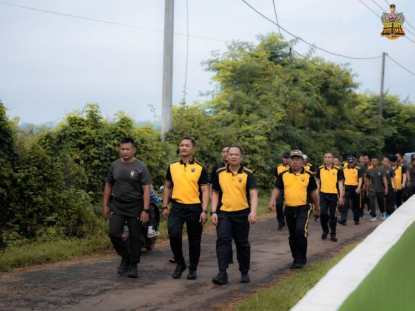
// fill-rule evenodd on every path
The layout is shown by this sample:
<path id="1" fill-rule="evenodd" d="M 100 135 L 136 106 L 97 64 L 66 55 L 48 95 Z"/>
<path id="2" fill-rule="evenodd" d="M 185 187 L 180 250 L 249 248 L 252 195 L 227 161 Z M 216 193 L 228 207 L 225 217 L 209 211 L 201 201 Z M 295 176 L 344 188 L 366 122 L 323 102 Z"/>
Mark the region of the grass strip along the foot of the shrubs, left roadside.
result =
<path id="1" fill-rule="evenodd" d="M 267 197 L 261 197 L 258 216 L 268 213 Z M 206 227 L 212 227 L 208 219 Z M 100 254 L 112 249 L 107 235 L 107 225 L 103 225 L 95 234 L 88 238 L 57 238 L 52 241 L 33 241 L 23 245 L 8 246 L 0 251 L 0 272 L 8 272 L 17 267 L 55 263 Z M 167 240 L 167 222 L 160 221 L 160 241 Z"/>

